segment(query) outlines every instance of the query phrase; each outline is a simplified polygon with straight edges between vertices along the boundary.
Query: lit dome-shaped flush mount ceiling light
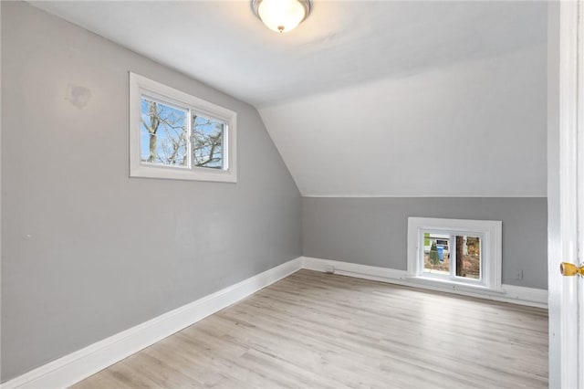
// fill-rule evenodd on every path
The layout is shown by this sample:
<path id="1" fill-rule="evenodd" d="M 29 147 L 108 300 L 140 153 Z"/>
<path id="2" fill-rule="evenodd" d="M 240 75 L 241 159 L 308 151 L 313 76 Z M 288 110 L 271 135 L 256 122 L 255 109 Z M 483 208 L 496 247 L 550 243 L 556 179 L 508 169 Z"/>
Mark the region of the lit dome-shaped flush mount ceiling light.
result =
<path id="1" fill-rule="evenodd" d="M 293 30 L 310 13 L 309 0 L 252 0 L 252 7 L 269 29 L 279 33 Z"/>

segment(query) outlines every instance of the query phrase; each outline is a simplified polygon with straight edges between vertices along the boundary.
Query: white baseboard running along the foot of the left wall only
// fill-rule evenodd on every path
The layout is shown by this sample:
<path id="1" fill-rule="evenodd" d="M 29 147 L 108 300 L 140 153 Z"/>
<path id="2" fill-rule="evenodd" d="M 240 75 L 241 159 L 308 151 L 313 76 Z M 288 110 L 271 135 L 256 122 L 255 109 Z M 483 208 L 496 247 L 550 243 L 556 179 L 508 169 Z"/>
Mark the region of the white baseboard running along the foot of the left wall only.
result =
<path id="1" fill-rule="evenodd" d="M 219 290 L 183 307 L 171 310 L 150 321 L 145 321 L 126 331 L 121 331 L 72 352 L 51 363 L 20 375 L 5 384 L 2 389 L 13 388 L 63 388 L 98 373 L 100 370 L 120 362 L 135 352 L 181 331 L 193 323 L 223 310 L 235 302 L 296 272 L 302 266 L 302 258 L 292 259 L 276 268 L 271 268 L 250 279 Z"/>

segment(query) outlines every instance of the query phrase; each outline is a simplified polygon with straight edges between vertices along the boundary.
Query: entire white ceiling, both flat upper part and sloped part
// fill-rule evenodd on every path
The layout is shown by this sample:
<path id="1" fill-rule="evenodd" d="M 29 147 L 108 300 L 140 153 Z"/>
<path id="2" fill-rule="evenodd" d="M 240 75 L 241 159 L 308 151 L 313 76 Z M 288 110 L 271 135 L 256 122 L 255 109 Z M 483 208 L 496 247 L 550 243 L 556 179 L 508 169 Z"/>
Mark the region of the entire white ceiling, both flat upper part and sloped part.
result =
<path id="1" fill-rule="evenodd" d="M 545 2 L 37 2 L 246 100 L 303 195 L 546 194 Z"/>

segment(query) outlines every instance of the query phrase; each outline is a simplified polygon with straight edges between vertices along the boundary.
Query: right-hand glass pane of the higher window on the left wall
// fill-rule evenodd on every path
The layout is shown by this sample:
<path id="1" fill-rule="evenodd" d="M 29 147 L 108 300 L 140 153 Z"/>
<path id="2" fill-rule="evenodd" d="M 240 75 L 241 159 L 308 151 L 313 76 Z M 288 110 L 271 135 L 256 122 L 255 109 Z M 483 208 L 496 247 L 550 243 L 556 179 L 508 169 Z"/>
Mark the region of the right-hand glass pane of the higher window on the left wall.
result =
<path id="1" fill-rule="evenodd" d="M 224 169 L 225 123 L 193 116 L 193 166 Z"/>

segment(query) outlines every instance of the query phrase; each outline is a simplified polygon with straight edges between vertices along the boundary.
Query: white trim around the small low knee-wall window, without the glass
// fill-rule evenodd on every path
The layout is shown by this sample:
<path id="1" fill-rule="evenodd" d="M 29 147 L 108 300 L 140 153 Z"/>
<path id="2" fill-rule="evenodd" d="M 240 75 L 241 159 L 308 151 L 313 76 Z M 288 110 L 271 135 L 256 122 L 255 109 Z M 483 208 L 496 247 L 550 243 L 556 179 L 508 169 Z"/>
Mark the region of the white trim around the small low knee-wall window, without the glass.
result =
<path id="1" fill-rule="evenodd" d="M 468 289 L 501 291 L 502 226 L 495 220 L 440 219 L 432 217 L 408 217 L 408 277 L 434 285 L 454 285 Z M 454 280 L 423 274 L 422 231 L 440 231 L 444 234 L 464 234 L 482 237 L 481 280 Z"/>

